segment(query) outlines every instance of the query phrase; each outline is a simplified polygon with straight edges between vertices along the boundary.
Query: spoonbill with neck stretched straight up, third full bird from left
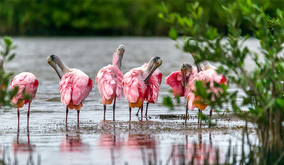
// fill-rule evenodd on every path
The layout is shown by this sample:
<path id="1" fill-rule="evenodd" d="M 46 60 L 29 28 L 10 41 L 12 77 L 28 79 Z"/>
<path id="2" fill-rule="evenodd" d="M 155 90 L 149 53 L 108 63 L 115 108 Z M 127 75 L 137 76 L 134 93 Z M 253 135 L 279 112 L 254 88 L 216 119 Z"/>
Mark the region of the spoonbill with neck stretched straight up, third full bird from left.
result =
<path id="1" fill-rule="evenodd" d="M 122 79 L 123 73 L 121 72 L 121 62 L 125 51 L 124 45 L 117 48 L 117 52 L 113 53 L 113 65 L 103 67 L 98 71 L 96 83 L 98 83 L 98 90 L 100 97 L 102 97 L 102 104 L 104 105 L 104 120 L 106 114 L 106 105 L 113 102 L 113 120 L 115 119 L 115 100 L 120 101 L 123 95 Z"/>

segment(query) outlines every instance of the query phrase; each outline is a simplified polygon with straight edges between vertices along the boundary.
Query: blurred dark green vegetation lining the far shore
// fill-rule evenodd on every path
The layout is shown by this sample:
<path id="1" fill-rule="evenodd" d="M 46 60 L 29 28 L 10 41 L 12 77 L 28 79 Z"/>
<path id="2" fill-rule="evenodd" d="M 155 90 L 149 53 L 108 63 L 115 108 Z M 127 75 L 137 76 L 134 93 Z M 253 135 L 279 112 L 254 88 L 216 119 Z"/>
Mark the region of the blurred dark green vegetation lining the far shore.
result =
<path id="1" fill-rule="evenodd" d="M 0 1 L 0 35 L 10 36 L 167 36 L 169 25 L 157 17 L 162 1 Z M 164 1 L 169 11 L 187 14 L 186 3 Z M 221 4 L 200 1 L 209 23 L 226 35 L 225 19 L 218 19 Z M 259 5 L 267 1 L 254 1 Z M 269 1 L 271 17 L 284 1 Z M 250 33 L 246 23 L 243 34 Z"/>

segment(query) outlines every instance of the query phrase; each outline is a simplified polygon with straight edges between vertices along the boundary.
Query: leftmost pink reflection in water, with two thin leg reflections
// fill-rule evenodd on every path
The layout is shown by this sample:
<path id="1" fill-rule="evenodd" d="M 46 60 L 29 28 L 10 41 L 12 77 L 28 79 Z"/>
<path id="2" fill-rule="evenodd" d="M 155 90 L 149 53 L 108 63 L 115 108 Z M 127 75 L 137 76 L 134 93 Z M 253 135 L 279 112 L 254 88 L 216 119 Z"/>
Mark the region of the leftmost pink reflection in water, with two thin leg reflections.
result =
<path id="1" fill-rule="evenodd" d="M 35 150 L 35 145 L 29 142 L 29 127 L 27 127 L 27 142 L 19 141 L 20 130 L 17 130 L 17 140 L 14 140 L 11 145 L 11 150 L 13 152 L 31 152 Z"/>

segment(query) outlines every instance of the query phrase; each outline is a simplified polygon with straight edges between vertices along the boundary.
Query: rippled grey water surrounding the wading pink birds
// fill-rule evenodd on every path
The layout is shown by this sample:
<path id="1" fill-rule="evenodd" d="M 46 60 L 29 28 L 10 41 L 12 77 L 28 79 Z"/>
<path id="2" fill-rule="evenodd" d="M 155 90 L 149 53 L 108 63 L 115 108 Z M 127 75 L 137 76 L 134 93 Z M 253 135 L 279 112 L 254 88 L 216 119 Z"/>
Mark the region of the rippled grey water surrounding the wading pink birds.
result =
<path id="1" fill-rule="evenodd" d="M 120 44 L 125 45 L 123 56 L 123 73 L 131 68 L 141 66 L 149 62 L 152 56 L 160 56 L 163 64 L 159 67 L 165 78 L 174 70 L 179 70 L 182 62 L 193 64 L 189 54 L 175 48 L 175 42 L 169 38 L 142 38 L 142 37 L 53 37 L 53 38 L 12 38 L 16 44 L 16 57 L 13 61 L 4 64 L 6 71 L 19 74 L 20 72 L 31 72 L 37 76 L 39 87 L 37 99 L 31 103 L 29 129 L 26 127 L 27 105 L 20 109 L 20 127 L 17 129 L 16 109 L 3 107 L 0 110 L 0 154 L 8 152 L 10 163 L 15 162 L 16 156 L 19 164 L 26 164 L 29 154 L 33 156 L 34 163 L 40 157 L 41 164 L 111 164 L 112 156 L 115 164 L 144 164 L 143 160 L 151 159 L 153 162 L 165 164 L 175 148 L 173 161 L 176 164 L 180 161 L 181 152 L 188 155 L 194 148 L 194 143 L 199 144 L 200 158 L 204 156 L 204 150 L 223 150 L 223 156 L 228 148 L 229 140 L 241 147 L 241 133 L 224 134 L 220 131 L 212 133 L 194 134 L 151 134 L 151 133 L 120 133 L 120 132 L 58 132 L 56 123 L 65 122 L 65 106 L 60 103 L 59 78 L 56 72 L 50 67 L 46 58 L 52 54 L 60 56 L 69 68 L 77 68 L 85 72 L 93 81 L 96 79 L 98 70 L 111 64 L 113 52 Z M 249 39 L 247 41 L 250 49 L 257 51 L 258 41 Z M 215 66 L 218 64 L 213 63 Z M 247 60 L 246 67 L 250 70 L 250 60 Z M 234 86 L 231 90 L 236 90 Z M 163 79 L 161 91 L 157 104 L 149 104 L 148 121 L 159 122 L 183 122 L 184 120 L 161 120 L 156 115 L 161 114 L 185 114 L 185 99 L 181 98 L 176 103 L 174 110 L 170 110 L 162 104 L 164 96 L 171 96 L 168 92 L 169 86 Z M 203 112 L 208 115 L 209 108 Z M 224 111 L 225 109 L 223 109 Z M 244 109 L 247 110 L 247 109 Z M 135 116 L 137 109 L 132 110 L 131 119 L 139 121 Z M 222 111 L 222 110 L 221 110 Z M 107 106 L 106 120 L 113 119 L 112 106 Z M 189 112 L 190 115 L 197 115 L 197 110 Z M 215 113 L 213 112 L 213 115 Z M 139 114 L 140 115 L 140 114 Z M 89 97 L 84 101 L 84 107 L 80 111 L 80 121 L 84 123 L 91 121 L 94 124 L 102 125 L 103 105 L 96 84 Z M 115 109 L 115 120 L 128 121 L 128 102 L 125 98 L 117 101 Z M 68 125 L 76 125 L 77 113 L 70 110 L 68 113 Z M 146 119 L 145 119 L 146 120 Z M 196 123 L 197 120 L 189 120 Z M 239 121 L 219 121 L 218 124 L 243 125 Z M 206 127 L 206 126 L 204 126 Z M 40 130 L 40 131 L 39 131 Z M 54 133 L 52 133 L 54 130 Z M 18 133 L 17 133 L 18 132 Z M 45 133 L 46 132 L 46 133 Z M 6 148 L 6 149 L 5 149 Z M 31 151 L 31 152 L 30 152 Z M 1 157 L 0 157 L 1 158 Z M 5 158 L 7 161 L 7 158 Z M 213 162 L 214 155 L 210 155 Z M 221 160 L 224 161 L 225 158 Z M 171 160 L 170 164 L 174 164 Z"/>

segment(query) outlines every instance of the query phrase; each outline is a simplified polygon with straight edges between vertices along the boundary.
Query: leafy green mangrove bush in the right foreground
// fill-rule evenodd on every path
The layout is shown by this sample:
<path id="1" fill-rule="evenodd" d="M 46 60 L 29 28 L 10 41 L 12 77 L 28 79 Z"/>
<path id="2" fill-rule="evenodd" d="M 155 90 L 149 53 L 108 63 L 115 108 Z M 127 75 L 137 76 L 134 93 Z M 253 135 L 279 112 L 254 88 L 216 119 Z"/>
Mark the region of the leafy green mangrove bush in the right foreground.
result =
<path id="1" fill-rule="evenodd" d="M 210 103 L 212 93 L 206 93 L 209 85 L 202 86 L 196 82 L 196 95 L 202 97 L 202 101 L 210 103 L 214 109 L 230 104 L 237 115 L 249 119 L 243 110 L 247 108 L 250 119 L 259 124 L 259 140 L 262 146 L 259 153 L 260 164 L 277 164 L 283 162 L 283 100 L 284 100 L 284 19 L 283 11 L 277 7 L 275 15 L 266 12 L 273 3 L 265 2 L 257 5 L 252 1 L 231 1 L 218 13 L 218 19 L 226 21 L 227 37 L 218 32 L 218 28 L 210 25 L 210 17 L 204 12 L 198 2 L 187 5 L 188 15 L 181 16 L 179 13 L 170 13 L 164 8 L 164 14 L 159 17 L 170 23 L 175 31 L 183 34 L 181 44 L 178 48 L 186 52 L 195 52 L 197 62 L 210 60 L 220 62 L 222 66 L 218 72 L 226 75 L 228 85 L 236 85 L 244 93 L 239 95 L 238 91 L 223 89 L 220 97 L 216 97 L 215 103 Z M 217 15 L 215 15 L 217 16 Z M 189 23 L 186 23 L 189 22 Z M 250 34 L 242 28 L 244 25 L 251 30 L 253 37 L 260 42 L 261 54 L 249 50 L 244 42 Z M 171 30 L 173 31 L 173 30 Z M 252 70 L 244 67 L 246 60 L 252 59 L 254 66 Z M 251 69 L 250 68 L 250 69 Z M 218 84 L 215 84 L 218 86 Z M 238 99 L 241 100 L 238 100 Z M 263 131 L 264 130 L 264 131 Z M 267 137 L 269 135 L 269 137 Z M 267 147 L 267 148 L 266 148 Z"/>

